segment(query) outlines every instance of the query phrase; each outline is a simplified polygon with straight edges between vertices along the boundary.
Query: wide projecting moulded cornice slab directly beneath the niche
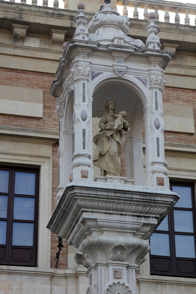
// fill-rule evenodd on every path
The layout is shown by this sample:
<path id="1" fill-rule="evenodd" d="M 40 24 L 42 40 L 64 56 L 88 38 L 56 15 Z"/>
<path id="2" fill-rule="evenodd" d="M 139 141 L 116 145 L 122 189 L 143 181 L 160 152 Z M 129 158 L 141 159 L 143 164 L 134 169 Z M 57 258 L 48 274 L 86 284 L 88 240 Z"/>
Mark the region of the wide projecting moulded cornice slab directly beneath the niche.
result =
<path id="1" fill-rule="evenodd" d="M 108 187 L 107 183 L 92 183 L 88 186 L 71 183 L 66 187 L 47 227 L 53 233 L 69 238 L 71 230 L 85 211 L 115 215 L 124 213 L 142 222 L 144 218 L 154 217 L 159 222 L 177 200 L 177 194 L 167 189 L 148 187 L 141 191 L 137 186 L 127 188 L 123 185 L 122 189 L 122 186 Z"/>

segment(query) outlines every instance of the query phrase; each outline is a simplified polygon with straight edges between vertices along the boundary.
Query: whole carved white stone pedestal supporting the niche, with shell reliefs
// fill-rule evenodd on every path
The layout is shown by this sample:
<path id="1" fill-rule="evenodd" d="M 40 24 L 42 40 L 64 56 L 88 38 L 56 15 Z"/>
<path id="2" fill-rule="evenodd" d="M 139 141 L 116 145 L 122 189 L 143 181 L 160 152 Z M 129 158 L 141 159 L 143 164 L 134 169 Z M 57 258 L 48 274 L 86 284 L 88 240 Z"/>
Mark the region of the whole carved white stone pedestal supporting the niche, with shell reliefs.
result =
<path id="1" fill-rule="evenodd" d="M 78 248 L 88 294 L 137 294 L 135 273 L 148 238 L 179 196 L 170 190 L 108 183 L 71 183 L 48 228 Z"/>

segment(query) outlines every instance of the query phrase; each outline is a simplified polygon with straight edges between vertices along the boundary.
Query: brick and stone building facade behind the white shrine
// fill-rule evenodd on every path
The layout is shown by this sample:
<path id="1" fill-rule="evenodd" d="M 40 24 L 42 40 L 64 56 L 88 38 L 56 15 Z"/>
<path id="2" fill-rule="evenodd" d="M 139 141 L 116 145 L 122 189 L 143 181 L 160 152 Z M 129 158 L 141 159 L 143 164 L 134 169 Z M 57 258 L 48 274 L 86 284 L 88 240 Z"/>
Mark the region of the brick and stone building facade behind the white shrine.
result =
<path id="1" fill-rule="evenodd" d="M 6 236 L 1 238 L 0 293 L 26 294 L 31 291 L 32 293 L 45 294 L 61 291 L 65 294 L 83 294 L 88 288 L 88 280 L 86 268 L 76 264 L 73 258 L 76 249 L 67 245 L 67 241 L 63 239 L 64 247 L 61 250 L 56 269 L 58 237 L 46 228 L 56 206 L 58 192 L 56 189 L 59 185 L 59 123 L 57 115 L 59 116 L 60 112 L 56 109 L 57 115 L 55 114 L 57 98 L 49 93 L 49 89 L 52 81 L 56 79 L 55 73 L 59 58 L 63 53 L 62 44 L 72 40 L 76 29 L 73 19 L 77 16 L 77 1 L 65 1 L 64 10 L 56 9 L 55 5 L 57 4 L 54 5 L 54 8 L 50 8 L 46 3 L 42 7 L 37 6 L 35 1 L 33 5 L 26 5 L 23 2 L 21 1 L 19 4 L 0 1 L 0 171 L 2 175 L 0 183 L 3 187 L 0 191 L 3 212 L 0 224 L 2 236 L 5 235 L 4 223 L 7 223 Z M 89 19 L 93 18 L 94 13 L 103 4 L 102 2 L 86 1 L 85 10 Z M 128 36 L 140 39 L 143 43 L 147 39 L 144 29 L 148 25 L 148 21 L 146 14 L 144 20 L 138 19 L 138 7 L 144 8 L 145 13 L 146 9 L 154 9 L 156 12 L 157 7 L 158 10 L 165 10 L 165 22 L 158 22 L 160 27 L 158 36 L 161 49 L 173 52 L 165 69 L 166 84 L 163 91 L 165 160 L 168 163 L 167 169 L 171 185 L 174 187 L 173 191 L 175 187 L 191 189 L 192 206 L 185 206 L 184 211 L 185 213 L 192 212 L 194 215 L 196 27 L 189 25 L 188 15 L 195 14 L 196 6 L 181 5 L 175 2 L 172 2 L 171 5 L 170 2 L 161 0 L 158 2 L 143 0 L 137 5 L 134 0 L 113 1 L 111 4 L 114 8 L 116 4 L 124 5 L 124 15 L 127 15 L 127 6 L 134 7 L 134 17 L 130 18 Z M 168 11 L 176 12 L 175 24 L 168 22 Z M 185 25 L 178 23 L 178 13 L 185 14 Z M 97 132 L 98 120 L 95 118 L 93 121 L 94 133 Z M 121 155 L 121 168 L 124 176 L 126 176 L 125 152 L 126 148 L 124 147 Z M 145 142 L 143 143 L 143 154 L 145 178 Z M 95 169 L 94 175 L 98 175 L 98 172 Z M 9 180 L 6 176 L 8 173 Z M 22 173 L 35 175 L 37 194 L 25 191 L 17 193 L 16 190 L 14 192 Z M 19 180 L 17 180 L 17 176 L 19 176 Z M 21 181 L 23 185 L 26 181 L 29 186 L 31 180 L 21 178 Z M 179 188 L 177 191 L 180 191 Z M 13 214 L 15 210 L 17 212 L 17 208 L 20 210 L 19 204 L 16 209 L 14 206 L 14 197 L 20 200 L 17 194 L 21 194 L 26 200 L 26 204 L 21 205 L 21 211 L 24 214 L 19 217 Z M 8 206 L 6 206 L 6 199 L 8 199 Z M 26 216 L 26 213 L 29 215 L 31 208 L 28 199 L 30 202 L 37 203 L 33 220 Z M 6 207 L 8 207 L 7 210 Z M 25 212 L 25 208 L 28 212 Z M 180 211 L 182 214 L 184 213 L 183 206 L 180 207 Z M 169 216 L 169 221 L 170 218 L 171 216 Z M 184 222 L 191 222 L 189 218 L 190 216 L 186 216 L 183 219 Z M 14 227 L 12 226 L 14 224 L 18 225 L 16 245 L 11 241 L 11 238 L 14 238 Z M 26 241 L 23 243 L 19 240 L 25 236 L 24 231 L 20 233 L 22 224 L 27 224 L 27 228 L 34 226 L 34 235 L 25 231 L 27 239 L 32 238 L 30 243 L 25 243 Z M 182 226 L 182 223 L 179 225 Z M 187 235 L 192 238 L 195 232 L 195 219 L 189 227 L 191 228 L 189 228 Z M 162 233 L 159 238 L 163 234 L 167 235 L 168 232 L 171 236 L 170 230 L 172 228 L 166 228 L 162 233 L 160 229 L 157 234 Z M 176 231 L 180 230 L 176 229 Z M 186 232 L 186 230 L 180 232 L 176 234 L 174 230 L 172 236 L 182 235 L 182 232 Z M 174 246 L 175 237 L 172 238 L 170 253 L 174 250 L 172 246 Z M 153 244 L 153 240 L 152 238 L 151 244 Z M 190 242 L 192 242 L 191 240 Z M 185 247 L 187 246 L 187 243 L 183 243 L 182 240 L 181 245 L 183 246 L 183 244 Z M 191 248 L 192 243 L 189 244 L 189 248 Z M 26 248 L 28 249 L 27 253 Z M 169 254 L 164 255 L 165 253 L 161 254 L 157 251 L 155 254 L 152 253 L 151 256 L 149 254 L 146 256 L 147 260 L 141 264 L 137 274 L 138 293 L 193 294 L 196 292 L 194 253 L 191 256 L 182 257 L 184 265 L 181 272 L 179 268 L 177 270 L 178 259 L 175 258 L 177 263 L 174 265 L 168 261 Z M 158 264 L 157 267 L 155 263 Z M 170 266 L 165 266 L 165 263 Z M 160 264 L 161 268 L 159 268 Z"/>

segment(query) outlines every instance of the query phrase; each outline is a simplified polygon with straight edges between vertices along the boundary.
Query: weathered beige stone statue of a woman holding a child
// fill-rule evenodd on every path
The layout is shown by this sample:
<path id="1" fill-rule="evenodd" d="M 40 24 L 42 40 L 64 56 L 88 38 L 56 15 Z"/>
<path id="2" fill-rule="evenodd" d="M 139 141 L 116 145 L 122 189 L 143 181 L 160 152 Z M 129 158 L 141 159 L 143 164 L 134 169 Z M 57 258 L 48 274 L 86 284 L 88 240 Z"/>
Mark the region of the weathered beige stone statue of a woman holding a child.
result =
<path id="1" fill-rule="evenodd" d="M 121 140 L 128 134 L 129 123 L 125 121 L 126 111 L 115 111 L 115 102 L 105 103 L 105 114 L 99 122 L 101 129 L 93 138 L 96 144 L 93 156 L 94 165 L 101 169 L 101 176 L 122 176 L 120 168 Z"/>

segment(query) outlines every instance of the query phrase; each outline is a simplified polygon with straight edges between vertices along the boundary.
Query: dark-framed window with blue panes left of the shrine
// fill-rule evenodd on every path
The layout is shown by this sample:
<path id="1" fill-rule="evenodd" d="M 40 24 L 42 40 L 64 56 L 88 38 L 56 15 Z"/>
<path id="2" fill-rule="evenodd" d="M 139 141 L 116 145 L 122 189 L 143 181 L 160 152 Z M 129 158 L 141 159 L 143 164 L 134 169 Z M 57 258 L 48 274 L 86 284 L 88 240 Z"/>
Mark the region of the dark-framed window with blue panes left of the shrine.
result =
<path id="1" fill-rule="evenodd" d="M 0 167 L 0 264 L 37 266 L 39 170 Z"/>

